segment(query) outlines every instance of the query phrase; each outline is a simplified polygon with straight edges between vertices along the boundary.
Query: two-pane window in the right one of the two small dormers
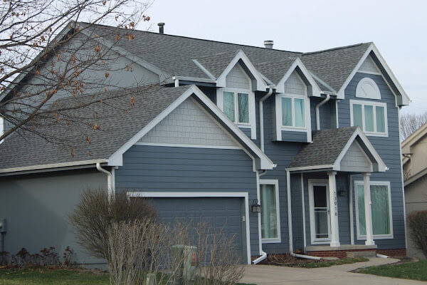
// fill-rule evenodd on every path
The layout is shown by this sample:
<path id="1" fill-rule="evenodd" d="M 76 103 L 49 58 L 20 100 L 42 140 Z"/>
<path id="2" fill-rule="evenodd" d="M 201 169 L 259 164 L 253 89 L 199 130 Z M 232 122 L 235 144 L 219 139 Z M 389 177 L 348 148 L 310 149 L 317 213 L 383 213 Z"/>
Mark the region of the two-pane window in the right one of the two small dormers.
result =
<path id="1" fill-rule="evenodd" d="M 305 128 L 305 98 L 283 96 L 282 126 L 285 128 Z"/>

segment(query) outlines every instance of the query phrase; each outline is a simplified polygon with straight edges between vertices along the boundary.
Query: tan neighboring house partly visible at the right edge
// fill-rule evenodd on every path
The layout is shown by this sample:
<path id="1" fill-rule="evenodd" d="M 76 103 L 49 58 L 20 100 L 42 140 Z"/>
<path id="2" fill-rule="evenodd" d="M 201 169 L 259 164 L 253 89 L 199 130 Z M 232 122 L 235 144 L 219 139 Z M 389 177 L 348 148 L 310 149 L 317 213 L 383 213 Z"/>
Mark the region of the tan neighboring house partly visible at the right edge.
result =
<path id="1" fill-rule="evenodd" d="M 402 142 L 406 215 L 427 210 L 427 123 Z M 423 257 L 408 239 L 408 255 Z M 425 258 L 425 257 L 424 257 Z"/>

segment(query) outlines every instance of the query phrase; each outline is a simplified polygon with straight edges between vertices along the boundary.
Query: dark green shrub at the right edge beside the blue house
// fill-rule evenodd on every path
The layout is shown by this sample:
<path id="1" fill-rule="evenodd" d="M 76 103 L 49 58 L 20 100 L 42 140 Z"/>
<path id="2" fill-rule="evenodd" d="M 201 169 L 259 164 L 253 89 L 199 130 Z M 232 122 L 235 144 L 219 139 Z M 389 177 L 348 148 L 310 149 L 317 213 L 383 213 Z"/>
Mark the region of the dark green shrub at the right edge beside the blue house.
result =
<path id="1" fill-rule="evenodd" d="M 427 257 L 427 211 L 413 212 L 406 220 L 413 244 Z"/>

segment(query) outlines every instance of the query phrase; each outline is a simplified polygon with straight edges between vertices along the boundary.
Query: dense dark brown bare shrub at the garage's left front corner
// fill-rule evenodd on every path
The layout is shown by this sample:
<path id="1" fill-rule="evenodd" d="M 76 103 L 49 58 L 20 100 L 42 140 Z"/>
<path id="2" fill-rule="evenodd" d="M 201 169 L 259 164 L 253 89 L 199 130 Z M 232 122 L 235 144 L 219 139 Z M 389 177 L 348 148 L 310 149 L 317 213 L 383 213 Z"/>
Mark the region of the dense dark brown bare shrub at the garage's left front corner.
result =
<path id="1" fill-rule="evenodd" d="M 108 198 L 104 190 L 86 190 L 69 219 L 81 247 L 94 257 L 109 260 L 107 231 L 115 222 L 155 219 L 157 212 L 147 199 L 129 199 L 125 192 Z"/>

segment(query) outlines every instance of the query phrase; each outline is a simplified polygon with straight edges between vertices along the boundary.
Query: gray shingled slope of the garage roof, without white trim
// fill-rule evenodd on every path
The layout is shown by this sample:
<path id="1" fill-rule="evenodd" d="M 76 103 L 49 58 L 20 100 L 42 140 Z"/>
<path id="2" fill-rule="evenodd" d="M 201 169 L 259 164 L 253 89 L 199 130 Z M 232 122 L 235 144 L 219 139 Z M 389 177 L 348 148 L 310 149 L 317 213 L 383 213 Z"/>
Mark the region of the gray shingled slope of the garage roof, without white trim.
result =
<path id="1" fill-rule="evenodd" d="M 45 138 L 51 135 L 63 140 L 63 144 L 48 142 L 28 131 L 10 135 L 0 144 L 0 169 L 107 159 L 189 88 L 145 86 L 102 93 L 104 103 L 67 111 L 70 120 L 80 123 L 67 125 L 65 119 L 56 123 L 53 118 L 42 122 L 43 130 L 39 131 L 46 133 Z M 131 108 L 132 96 L 135 105 Z M 59 107 L 79 103 L 73 98 L 58 102 Z M 88 123 L 96 123 L 100 130 L 93 130 Z"/>

